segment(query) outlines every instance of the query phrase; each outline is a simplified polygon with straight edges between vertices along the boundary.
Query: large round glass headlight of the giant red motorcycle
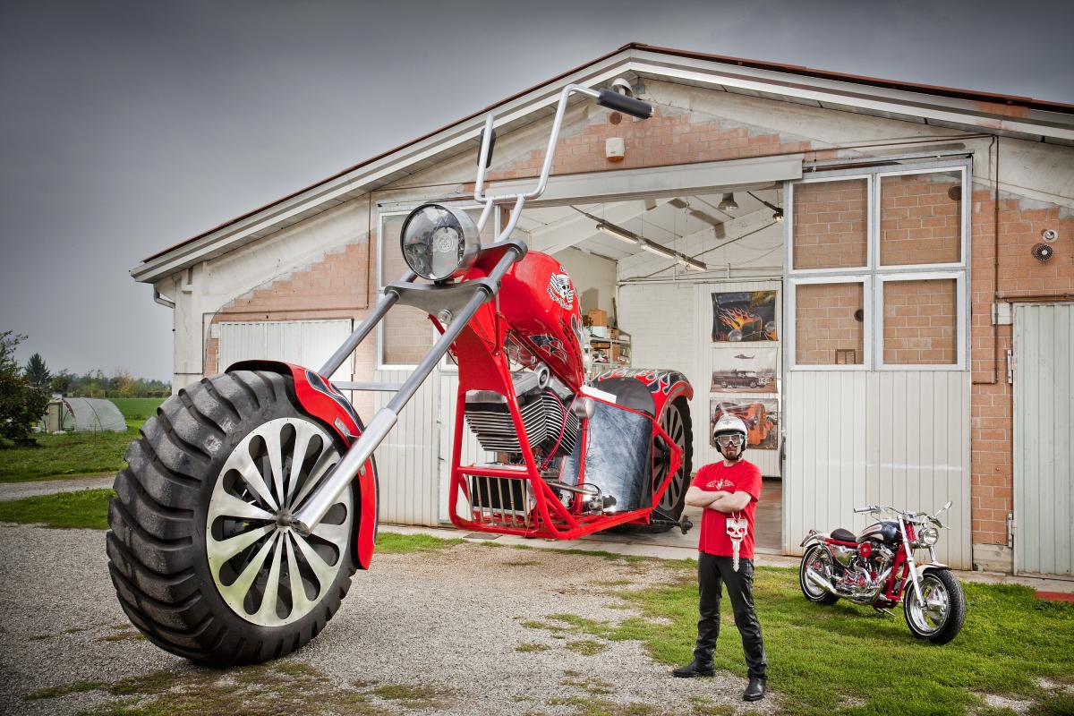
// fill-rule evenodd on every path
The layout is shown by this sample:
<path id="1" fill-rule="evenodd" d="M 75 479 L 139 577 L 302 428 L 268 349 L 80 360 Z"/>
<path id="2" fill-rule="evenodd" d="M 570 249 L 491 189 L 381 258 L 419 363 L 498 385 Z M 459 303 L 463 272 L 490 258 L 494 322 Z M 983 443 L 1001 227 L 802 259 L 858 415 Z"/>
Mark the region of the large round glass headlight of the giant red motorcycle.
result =
<path id="1" fill-rule="evenodd" d="M 465 211 L 425 204 L 403 223 L 400 239 L 410 271 L 431 281 L 442 281 L 474 265 L 481 248 L 477 224 Z"/>

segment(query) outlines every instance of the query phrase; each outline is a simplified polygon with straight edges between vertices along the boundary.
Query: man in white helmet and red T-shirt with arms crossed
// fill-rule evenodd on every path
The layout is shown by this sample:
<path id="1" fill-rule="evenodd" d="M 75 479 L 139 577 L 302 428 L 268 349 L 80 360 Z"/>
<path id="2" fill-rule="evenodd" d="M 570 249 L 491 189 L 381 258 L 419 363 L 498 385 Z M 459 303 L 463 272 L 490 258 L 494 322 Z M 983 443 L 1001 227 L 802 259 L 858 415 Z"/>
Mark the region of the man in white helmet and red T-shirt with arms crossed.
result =
<path id="1" fill-rule="evenodd" d="M 672 673 L 681 677 L 715 673 L 712 652 L 720 634 L 721 586 L 726 584 L 750 668 L 750 685 L 742 699 L 757 701 L 765 697 L 768 667 L 760 624 L 753 610 L 753 514 L 760 498 L 760 470 L 742 459 L 745 423 L 725 413 L 716 421 L 713 435 L 724 458 L 698 470 L 686 491 L 686 505 L 705 508 L 697 565 L 697 646 L 694 660 Z"/>

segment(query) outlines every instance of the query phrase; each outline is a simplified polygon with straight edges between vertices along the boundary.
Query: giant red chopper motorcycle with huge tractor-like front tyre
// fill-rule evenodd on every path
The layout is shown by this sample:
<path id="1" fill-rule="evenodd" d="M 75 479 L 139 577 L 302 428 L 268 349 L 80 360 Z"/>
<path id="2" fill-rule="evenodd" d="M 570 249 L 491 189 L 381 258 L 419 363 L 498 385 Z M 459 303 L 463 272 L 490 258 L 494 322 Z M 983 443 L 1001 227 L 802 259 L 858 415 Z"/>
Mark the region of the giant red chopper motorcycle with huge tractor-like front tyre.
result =
<path id="1" fill-rule="evenodd" d="M 142 428 L 116 477 L 108 568 L 131 622 L 158 646 L 231 664 L 288 654 L 332 618 L 377 531 L 373 452 L 436 365 L 459 366 L 449 513 L 460 528 L 575 539 L 610 527 L 659 531 L 682 517 L 693 390 L 672 370 L 585 378 L 574 286 L 560 262 L 511 238 L 546 187 L 571 93 L 644 119 L 615 91 L 564 88 L 543 166 L 528 193 L 485 195 L 495 144 L 481 134 L 477 222 L 426 204 L 407 218 L 410 271 L 319 370 L 272 361 L 230 366 L 178 391 Z M 479 235 L 511 206 L 496 240 Z M 423 279 L 423 280 L 419 280 Z M 440 333 L 366 425 L 328 380 L 395 304 Z M 461 464 L 464 422 L 495 462 Z"/>

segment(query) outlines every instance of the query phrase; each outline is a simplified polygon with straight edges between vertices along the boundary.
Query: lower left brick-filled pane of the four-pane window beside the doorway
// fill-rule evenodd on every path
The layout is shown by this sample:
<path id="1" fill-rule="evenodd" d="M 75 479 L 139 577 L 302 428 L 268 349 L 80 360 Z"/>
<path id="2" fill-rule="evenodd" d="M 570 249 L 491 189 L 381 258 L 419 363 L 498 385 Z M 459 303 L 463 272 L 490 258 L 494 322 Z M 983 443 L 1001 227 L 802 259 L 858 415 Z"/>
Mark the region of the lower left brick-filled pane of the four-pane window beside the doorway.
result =
<path id="1" fill-rule="evenodd" d="M 865 290 L 855 283 L 806 283 L 795 290 L 795 362 L 865 363 Z"/>

